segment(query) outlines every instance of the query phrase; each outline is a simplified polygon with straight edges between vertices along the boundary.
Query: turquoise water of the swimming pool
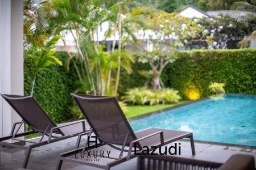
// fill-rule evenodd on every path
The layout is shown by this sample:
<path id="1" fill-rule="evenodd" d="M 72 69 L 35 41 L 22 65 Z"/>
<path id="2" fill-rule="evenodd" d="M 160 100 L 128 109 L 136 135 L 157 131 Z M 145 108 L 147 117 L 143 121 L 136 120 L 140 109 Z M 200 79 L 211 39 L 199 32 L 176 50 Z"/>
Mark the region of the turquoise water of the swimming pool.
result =
<path id="1" fill-rule="evenodd" d="M 130 121 L 134 131 L 163 128 L 192 131 L 194 139 L 256 146 L 256 96 L 225 95 Z"/>

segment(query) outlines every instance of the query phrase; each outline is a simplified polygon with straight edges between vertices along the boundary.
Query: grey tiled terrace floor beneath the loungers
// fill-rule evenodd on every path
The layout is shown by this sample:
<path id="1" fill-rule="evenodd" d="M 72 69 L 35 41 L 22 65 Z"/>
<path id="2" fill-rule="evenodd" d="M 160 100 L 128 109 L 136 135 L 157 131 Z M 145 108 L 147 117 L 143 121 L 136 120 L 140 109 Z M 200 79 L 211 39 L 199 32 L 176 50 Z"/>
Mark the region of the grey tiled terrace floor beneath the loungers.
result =
<path id="1" fill-rule="evenodd" d="M 60 153 L 75 149 L 76 137 L 52 143 L 32 150 L 27 169 L 55 169 Z M 196 155 L 192 156 L 190 143 L 180 141 L 181 157 L 224 163 L 233 154 L 251 154 L 256 158 L 256 148 L 195 143 Z M 170 145 L 174 145 L 171 143 Z M 0 169 L 22 169 L 25 151 L 17 148 L 0 147 Z M 114 154 L 114 153 L 113 153 Z M 119 154 L 116 152 L 115 154 Z M 75 163 L 65 163 L 62 169 L 98 169 Z M 112 169 L 137 169 L 137 159 L 129 160 Z"/>

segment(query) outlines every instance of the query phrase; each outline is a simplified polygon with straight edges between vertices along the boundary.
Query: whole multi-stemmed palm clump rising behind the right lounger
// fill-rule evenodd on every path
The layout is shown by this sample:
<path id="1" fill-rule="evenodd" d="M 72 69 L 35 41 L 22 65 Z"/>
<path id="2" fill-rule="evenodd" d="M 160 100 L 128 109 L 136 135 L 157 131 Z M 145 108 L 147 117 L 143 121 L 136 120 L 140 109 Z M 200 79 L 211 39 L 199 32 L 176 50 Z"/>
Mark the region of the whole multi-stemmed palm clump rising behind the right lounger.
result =
<path id="1" fill-rule="evenodd" d="M 122 66 L 129 66 L 127 59 L 124 58 L 125 61 L 121 62 L 121 54 L 125 54 L 121 50 L 121 45 L 119 45 L 119 54 L 115 59 L 118 62 L 116 64 L 113 60 L 115 58 L 114 56 L 116 56 L 115 50 L 112 50 L 112 57 L 106 57 L 108 59 L 104 58 L 105 55 L 109 56 L 110 54 L 105 53 L 98 39 L 98 30 L 100 30 L 102 23 L 108 22 L 113 18 L 119 18 L 120 20 L 121 12 L 116 11 L 122 7 L 121 4 L 122 2 L 119 1 L 108 3 L 83 0 L 52 1 L 54 11 L 52 23 L 56 25 L 56 33 L 72 35 L 76 44 L 77 54 L 72 54 L 65 45 L 65 39 L 63 39 L 64 46 L 69 55 L 66 62 L 67 66 L 69 66 L 69 62 L 73 57 L 76 57 L 77 61 L 82 63 L 73 62 L 81 82 L 80 84 L 89 84 L 89 89 L 86 89 L 86 91 L 93 91 L 94 95 L 105 95 L 109 93 L 112 70 L 116 68 L 120 70 Z M 122 36 L 119 36 L 119 39 L 122 40 Z M 119 44 L 121 44 L 121 41 L 119 41 Z M 126 53 L 125 56 L 129 56 L 129 54 Z M 108 75 L 106 76 L 105 73 L 107 70 Z M 116 84 L 119 81 L 119 73 L 117 73 L 117 76 Z M 85 83 L 84 80 L 87 80 L 88 83 Z"/>

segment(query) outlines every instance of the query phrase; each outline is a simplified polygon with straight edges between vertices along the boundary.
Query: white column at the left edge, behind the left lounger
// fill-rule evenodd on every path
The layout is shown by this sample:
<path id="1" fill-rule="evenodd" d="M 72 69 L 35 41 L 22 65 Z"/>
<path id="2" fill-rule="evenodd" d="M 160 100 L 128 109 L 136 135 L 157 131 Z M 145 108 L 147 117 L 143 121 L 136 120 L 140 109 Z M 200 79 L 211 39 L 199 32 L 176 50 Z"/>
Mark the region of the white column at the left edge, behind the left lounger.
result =
<path id="1" fill-rule="evenodd" d="M 23 1 L 1 3 L 1 94 L 23 95 Z M 1 97 L 0 137 L 9 135 L 21 118 Z M 23 129 L 23 128 L 22 128 Z"/>

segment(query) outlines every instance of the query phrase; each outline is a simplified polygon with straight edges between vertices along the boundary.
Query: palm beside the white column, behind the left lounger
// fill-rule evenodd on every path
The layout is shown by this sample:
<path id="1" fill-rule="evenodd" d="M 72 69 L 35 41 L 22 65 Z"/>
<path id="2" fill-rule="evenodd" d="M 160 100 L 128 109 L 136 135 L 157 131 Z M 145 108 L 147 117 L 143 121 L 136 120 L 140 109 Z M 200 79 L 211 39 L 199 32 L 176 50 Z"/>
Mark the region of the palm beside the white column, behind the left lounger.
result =
<path id="1" fill-rule="evenodd" d="M 24 0 L 24 59 L 32 59 L 34 63 L 34 78 L 32 80 L 31 95 L 34 93 L 36 75 L 51 65 L 62 65 L 54 55 L 53 49 L 60 36 L 47 33 L 49 2 L 42 0 Z"/>

